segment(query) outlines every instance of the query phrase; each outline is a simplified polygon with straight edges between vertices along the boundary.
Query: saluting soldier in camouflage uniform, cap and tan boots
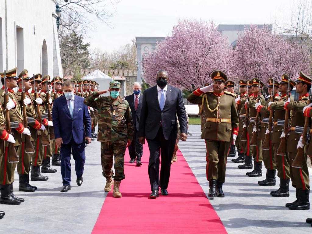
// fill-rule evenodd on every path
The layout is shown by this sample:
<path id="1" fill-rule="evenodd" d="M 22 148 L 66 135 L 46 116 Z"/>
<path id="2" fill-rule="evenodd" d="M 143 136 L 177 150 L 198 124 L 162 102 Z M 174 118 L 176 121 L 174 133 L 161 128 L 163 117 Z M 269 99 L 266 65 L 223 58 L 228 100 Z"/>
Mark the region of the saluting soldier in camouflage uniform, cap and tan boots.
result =
<path id="1" fill-rule="evenodd" d="M 98 141 L 101 142 L 103 176 L 106 178 L 105 192 L 111 190 L 114 178 L 113 196 L 121 197 L 120 181 L 124 176 L 124 153 L 131 144 L 133 122 L 131 110 L 126 100 L 119 96 L 120 82 L 111 81 L 110 89 L 94 92 L 85 99 L 85 105 L 99 112 Z M 99 97 L 110 91 L 110 96 Z M 113 157 L 115 155 L 115 176 L 113 176 Z"/>

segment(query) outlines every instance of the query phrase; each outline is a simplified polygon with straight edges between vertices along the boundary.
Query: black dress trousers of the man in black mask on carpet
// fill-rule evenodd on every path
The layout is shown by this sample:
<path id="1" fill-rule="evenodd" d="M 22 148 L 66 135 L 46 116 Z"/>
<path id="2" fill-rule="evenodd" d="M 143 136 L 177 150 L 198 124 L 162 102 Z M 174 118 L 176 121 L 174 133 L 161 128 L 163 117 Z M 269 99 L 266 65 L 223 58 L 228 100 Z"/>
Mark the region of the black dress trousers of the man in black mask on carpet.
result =
<path id="1" fill-rule="evenodd" d="M 154 139 L 146 139 L 149 144 L 149 182 L 151 190 L 167 189 L 170 178 L 171 160 L 176 139 L 166 140 L 163 135 L 163 127 L 160 126 Z M 160 153 L 160 154 L 159 154 Z M 159 177 L 159 156 L 161 168 Z"/>

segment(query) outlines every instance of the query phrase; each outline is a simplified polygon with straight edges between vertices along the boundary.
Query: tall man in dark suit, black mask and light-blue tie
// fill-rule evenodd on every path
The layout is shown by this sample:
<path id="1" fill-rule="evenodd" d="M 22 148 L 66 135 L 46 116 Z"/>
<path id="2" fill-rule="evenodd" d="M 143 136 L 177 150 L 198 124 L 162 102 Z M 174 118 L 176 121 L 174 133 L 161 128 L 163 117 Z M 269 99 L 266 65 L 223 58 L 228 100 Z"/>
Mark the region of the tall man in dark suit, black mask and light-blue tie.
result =
<path id="1" fill-rule="evenodd" d="M 152 193 L 150 198 L 168 195 L 167 188 L 170 177 L 171 159 L 178 133 L 177 117 L 180 122 L 181 140 L 187 139 L 187 120 L 178 88 L 167 85 L 168 73 L 160 70 L 157 73 L 157 85 L 144 91 L 142 110 L 139 122 L 139 141 L 149 144 L 149 182 Z M 161 153 L 161 169 L 159 179 L 159 151 Z"/>

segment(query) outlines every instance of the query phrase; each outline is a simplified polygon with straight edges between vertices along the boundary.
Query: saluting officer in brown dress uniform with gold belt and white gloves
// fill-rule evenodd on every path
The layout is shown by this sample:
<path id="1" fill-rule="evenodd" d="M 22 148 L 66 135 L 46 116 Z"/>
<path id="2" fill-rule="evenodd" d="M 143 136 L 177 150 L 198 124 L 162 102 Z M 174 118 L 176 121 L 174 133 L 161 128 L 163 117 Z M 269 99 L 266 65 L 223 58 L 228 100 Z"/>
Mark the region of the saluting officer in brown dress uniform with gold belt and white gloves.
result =
<path id="1" fill-rule="evenodd" d="M 205 139 L 207 149 L 208 196 L 224 197 L 222 185 L 225 181 L 227 154 L 230 149 L 231 135 L 235 144 L 239 120 L 235 103 L 236 95 L 223 90 L 227 76 L 222 71 L 214 71 L 211 78 L 213 84 L 195 90 L 188 96 L 188 101 L 202 104 L 207 117 L 201 138 Z M 209 91 L 212 86 L 213 91 Z"/>

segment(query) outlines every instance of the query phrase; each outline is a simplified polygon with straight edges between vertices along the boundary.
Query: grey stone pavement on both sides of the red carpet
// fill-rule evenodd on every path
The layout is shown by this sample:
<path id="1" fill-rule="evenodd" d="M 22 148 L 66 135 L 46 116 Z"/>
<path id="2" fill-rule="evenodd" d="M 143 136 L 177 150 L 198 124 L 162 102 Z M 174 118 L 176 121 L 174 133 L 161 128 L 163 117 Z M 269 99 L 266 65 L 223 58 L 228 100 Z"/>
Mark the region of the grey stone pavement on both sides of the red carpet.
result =
<path id="1" fill-rule="evenodd" d="M 207 195 L 206 151 L 204 140 L 200 139 L 200 126 L 190 125 L 189 132 L 193 136 L 181 142 L 180 149 Z M 0 210 L 6 212 L 0 220 L 0 234 L 91 233 L 107 194 L 100 164 L 100 143 L 92 141 L 85 152 L 84 182 L 81 187 L 77 186 L 71 160 L 72 188 L 67 193 L 60 193 L 60 167 L 53 166 L 58 169 L 56 174 L 44 174 L 49 176 L 48 181 L 32 181 L 31 184 L 38 187 L 34 193 L 18 191 L 16 173 L 14 194 L 25 198 L 25 202 L 15 206 L 0 204 Z M 249 178 L 245 175 L 249 170 L 238 169 L 238 164 L 231 159 L 223 188 L 225 197 L 209 200 L 228 233 L 312 233 L 312 227 L 305 223 L 307 217 L 312 217 L 312 211 L 290 211 L 285 207 L 286 202 L 295 200 L 294 189 L 291 188 L 290 197 L 273 198 L 269 192 L 277 186 L 257 185 L 264 177 Z"/>

